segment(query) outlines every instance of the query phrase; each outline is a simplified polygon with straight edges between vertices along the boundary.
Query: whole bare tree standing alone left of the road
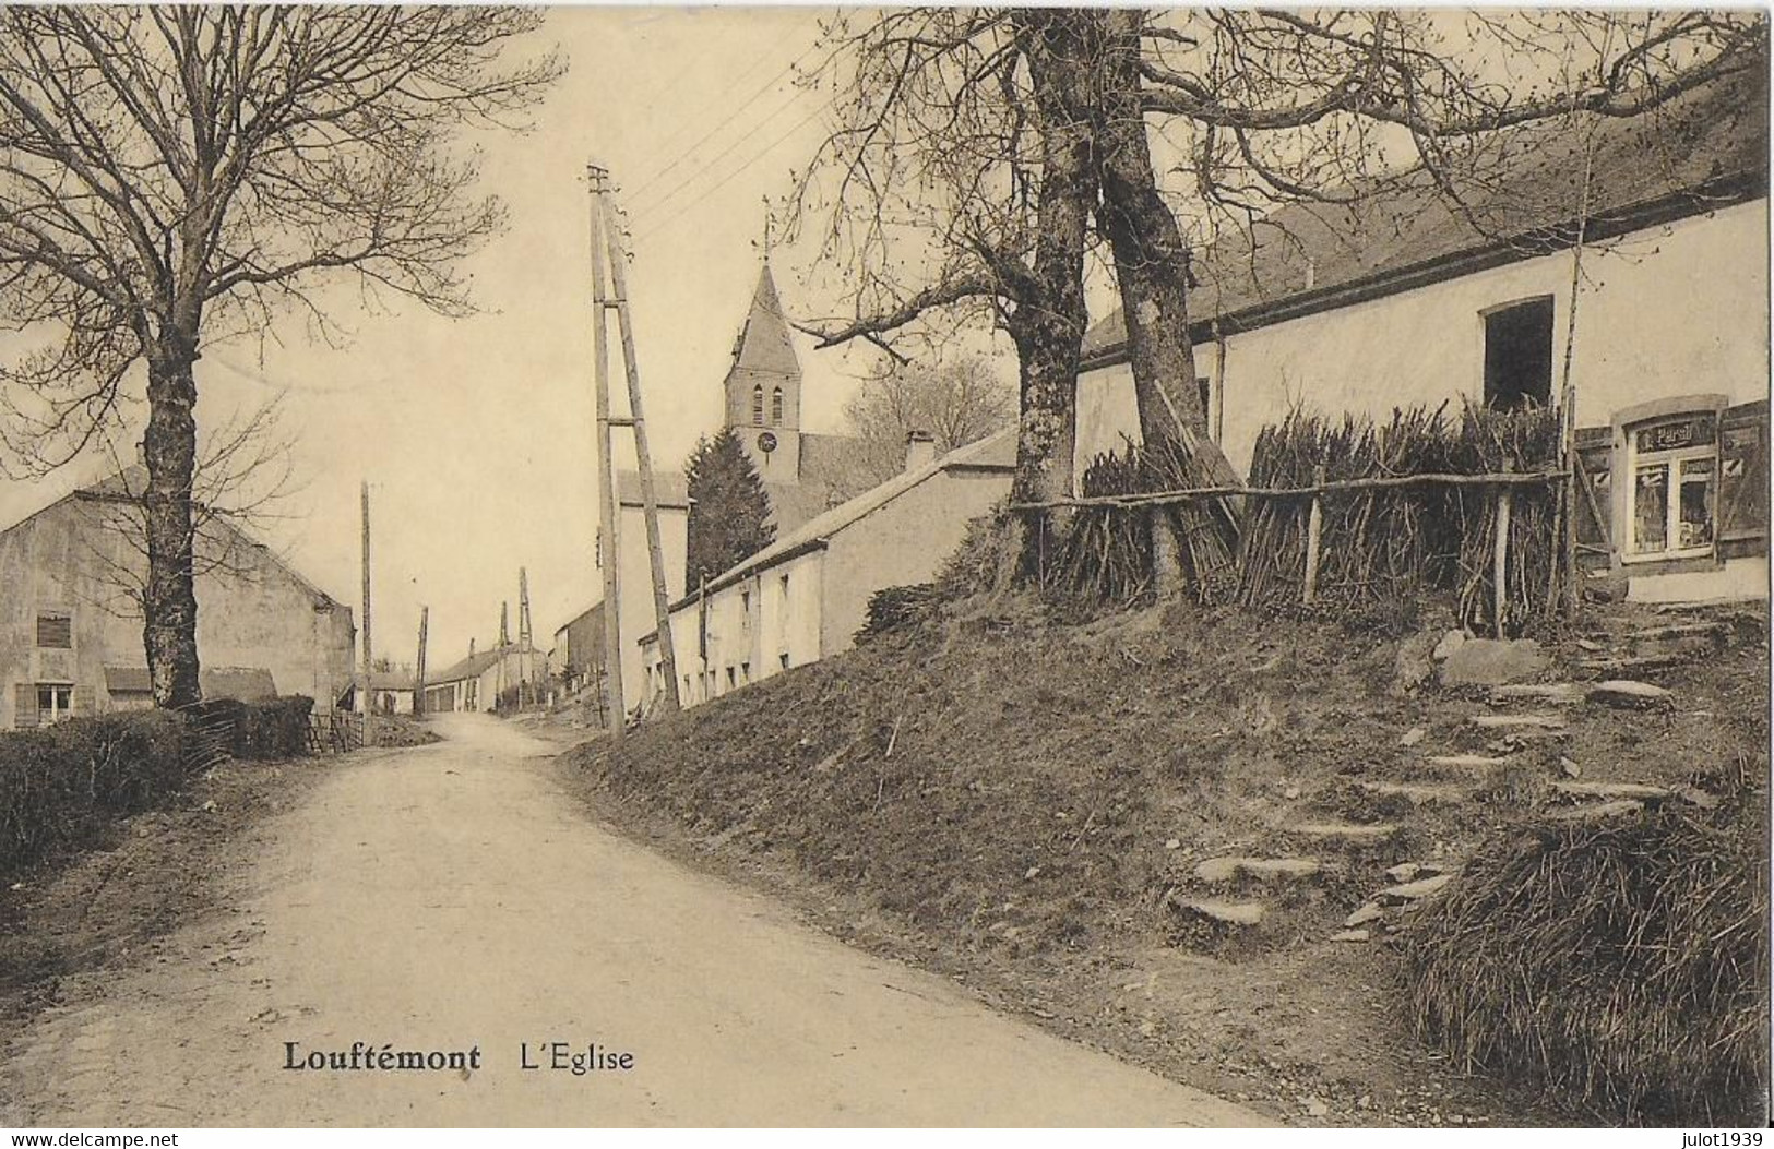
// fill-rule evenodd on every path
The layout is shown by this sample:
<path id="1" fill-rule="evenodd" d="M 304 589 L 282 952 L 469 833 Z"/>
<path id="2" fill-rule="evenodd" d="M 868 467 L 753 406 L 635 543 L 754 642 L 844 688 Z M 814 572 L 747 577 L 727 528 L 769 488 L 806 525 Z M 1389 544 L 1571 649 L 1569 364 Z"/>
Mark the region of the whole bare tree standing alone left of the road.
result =
<path id="1" fill-rule="evenodd" d="M 502 66 L 541 12 L 486 7 L 0 9 L 0 321 L 9 442 L 78 454 L 145 365 L 144 644 L 158 706 L 199 697 L 193 363 L 316 289 L 444 314 L 500 231 L 461 128 L 522 128 L 553 55 Z"/>

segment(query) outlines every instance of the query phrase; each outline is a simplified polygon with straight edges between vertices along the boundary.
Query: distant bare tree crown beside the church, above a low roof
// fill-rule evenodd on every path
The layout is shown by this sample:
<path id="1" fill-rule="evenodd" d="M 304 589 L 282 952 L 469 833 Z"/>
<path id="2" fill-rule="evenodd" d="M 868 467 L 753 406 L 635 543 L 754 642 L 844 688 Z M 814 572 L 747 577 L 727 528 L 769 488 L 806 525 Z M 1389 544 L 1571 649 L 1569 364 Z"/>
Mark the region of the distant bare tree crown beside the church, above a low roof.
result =
<path id="1" fill-rule="evenodd" d="M 857 438 L 855 489 L 844 498 L 905 470 L 907 436 L 926 431 L 937 452 L 974 443 L 1017 420 L 1017 392 L 977 355 L 947 362 L 887 360 L 864 378 L 844 404 Z"/>

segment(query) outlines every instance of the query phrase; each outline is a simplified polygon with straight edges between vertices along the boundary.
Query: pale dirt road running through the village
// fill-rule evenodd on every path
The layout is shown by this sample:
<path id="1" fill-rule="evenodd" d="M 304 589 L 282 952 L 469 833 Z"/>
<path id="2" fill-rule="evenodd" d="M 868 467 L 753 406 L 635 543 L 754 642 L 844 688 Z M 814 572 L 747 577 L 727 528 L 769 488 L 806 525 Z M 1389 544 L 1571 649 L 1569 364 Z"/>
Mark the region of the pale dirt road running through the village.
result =
<path id="1" fill-rule="evenodd" d="M 589 825 L 552 746 L 445 732 L 335 766 L 222 911 L 76 979 L 0 1124 L 1261 1124 Z M 286 1067 L 353 1043 L 479 1069 Z M 550 1067 L 587 1046 L 632 1067 Z"/>

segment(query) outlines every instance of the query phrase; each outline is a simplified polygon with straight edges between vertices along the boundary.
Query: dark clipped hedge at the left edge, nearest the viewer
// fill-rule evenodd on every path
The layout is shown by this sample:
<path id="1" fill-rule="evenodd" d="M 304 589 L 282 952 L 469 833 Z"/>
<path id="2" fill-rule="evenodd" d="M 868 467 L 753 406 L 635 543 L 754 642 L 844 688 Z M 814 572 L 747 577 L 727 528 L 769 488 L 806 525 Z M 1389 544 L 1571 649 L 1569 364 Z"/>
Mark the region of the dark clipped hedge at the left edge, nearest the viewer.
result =
<path id="1" fill-rule="evenodd" d="M 144 711 L 0 734 L 0 872 L 89 842 L 184 786 L 186 723 Z"/>

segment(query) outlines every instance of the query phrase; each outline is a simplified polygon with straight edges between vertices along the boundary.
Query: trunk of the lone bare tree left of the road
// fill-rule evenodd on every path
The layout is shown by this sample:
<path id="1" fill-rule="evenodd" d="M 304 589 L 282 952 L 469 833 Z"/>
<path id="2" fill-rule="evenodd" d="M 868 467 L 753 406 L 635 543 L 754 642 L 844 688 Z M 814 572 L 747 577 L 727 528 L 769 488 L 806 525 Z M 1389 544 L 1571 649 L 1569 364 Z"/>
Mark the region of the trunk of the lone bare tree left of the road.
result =
<path id="1" fill-rule="evenodd" d="M 147 587 L 142 642 L 154 706 L 197 702 L 197 590 L 193 585 L 192 482 L 197 470 L 197 339 L 170 324 L 147 356 Z"/>

